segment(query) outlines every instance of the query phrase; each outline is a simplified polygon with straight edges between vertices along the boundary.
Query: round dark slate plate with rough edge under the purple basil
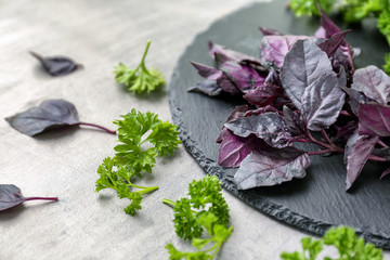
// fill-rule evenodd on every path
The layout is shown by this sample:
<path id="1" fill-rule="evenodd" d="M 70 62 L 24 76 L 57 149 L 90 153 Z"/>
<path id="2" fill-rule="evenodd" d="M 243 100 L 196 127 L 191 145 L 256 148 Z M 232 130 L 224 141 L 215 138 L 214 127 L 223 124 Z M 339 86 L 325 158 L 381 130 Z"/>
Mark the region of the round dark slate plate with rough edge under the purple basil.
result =
<path id="1" fill-rule="evenodd" d="M 226 101 L 186 91 L 202 80 L 190 61 L 213 65 L 208 56 L 208 41 L 258 56 L 261 39 L 258 26 L 284 34 L 313 35 L 318 25 L 317 18 L 295 18 L 286 9 L 286 1 L 282 0 L 256 3 L 216 22 L 196 36 L 173 72 L 169 89 L 173 121 L 179 125 L 185 147 L 200 167 L 207 173 L 217 174 L 224 188 L 253 208 L 317 235 L 323 235 L 332 225 L 350 225 L 370 243 L 390 249 L 390 181 L 378 180 L 386 166 L 368 164 L 352 191 L 347 193 L 342 156 L 312 156 L 308 176 L 302 180 L 273 187 L 237 191 L 231 182 L 236 169 L 223 169 L 216 162 L 219 148 L 216 139 L 229 114 L 242 101 Z M 343 25 L 340 27 L 346 28 Z M 376 30 L 375 21 L 349 28 L 353 31 L 348 40 L 362 49 L 361 56 L 355 61 L 356 67 L 368 64 L 380 67 L 389 47 Z"/>

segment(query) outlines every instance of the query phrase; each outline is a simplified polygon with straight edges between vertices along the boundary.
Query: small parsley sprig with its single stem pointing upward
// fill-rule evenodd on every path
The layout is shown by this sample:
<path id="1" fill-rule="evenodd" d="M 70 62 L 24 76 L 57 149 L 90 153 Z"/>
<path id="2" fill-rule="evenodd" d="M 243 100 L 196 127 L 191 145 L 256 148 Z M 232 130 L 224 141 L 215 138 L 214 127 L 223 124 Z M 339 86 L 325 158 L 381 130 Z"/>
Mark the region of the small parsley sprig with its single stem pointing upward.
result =
<path id="1" fill-rule="evenodd" d="M 135 69 L 131 69 L 125 64 L 119 63 L 114 70 L 116 81 L 125 83 L 127 87 L 130 87 L 128 89 L 129 91 L 133 91 L 138 94 L 144 92 L 150 93 L 151 91 L 154 91 L 165 84 L 165 78 L 158 69 L 146 68 L 145 57 L 150 46 L 151 41 L 148 40 L 142 60 Z"/>

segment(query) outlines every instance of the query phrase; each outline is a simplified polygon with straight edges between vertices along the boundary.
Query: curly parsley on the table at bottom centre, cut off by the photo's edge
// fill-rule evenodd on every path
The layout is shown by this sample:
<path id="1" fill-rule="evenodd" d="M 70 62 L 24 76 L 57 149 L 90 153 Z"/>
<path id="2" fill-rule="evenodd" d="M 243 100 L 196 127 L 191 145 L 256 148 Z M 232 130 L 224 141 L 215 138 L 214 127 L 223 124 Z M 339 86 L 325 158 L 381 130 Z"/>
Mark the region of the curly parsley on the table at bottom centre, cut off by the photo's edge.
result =
<path id="1" fill-rule="evenodd" d="M 232 226 L 227 227 L 229 207 L 221 194 L 221 183 L 214 176 L 193 181 L 188 187 L 188 198 L 176 203 L 165 198 L 162 202 L 173 207 L 178 236 L 192 240 L 192 245 L 197 248 L 195 252 L 182 252 L 168 244 L 166 248 L 171 260 L 212 259 L 233 232 Z M 208 237 L 200 238 L 204 230 Z M 207 247 L 212 243 L 212 246 Z"/>

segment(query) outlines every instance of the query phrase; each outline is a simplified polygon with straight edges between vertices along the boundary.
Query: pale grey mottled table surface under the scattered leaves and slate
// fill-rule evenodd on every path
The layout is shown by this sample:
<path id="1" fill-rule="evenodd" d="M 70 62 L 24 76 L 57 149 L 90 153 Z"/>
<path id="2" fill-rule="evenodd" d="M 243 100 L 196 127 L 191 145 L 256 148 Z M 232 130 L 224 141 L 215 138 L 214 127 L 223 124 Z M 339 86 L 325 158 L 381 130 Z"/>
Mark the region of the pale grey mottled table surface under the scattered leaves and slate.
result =
<path id="1" fill-rule="evenodd" d="M 113 67 L 136 65 L 152 40 L 148 66 L 171 76 L 180 54 L 213 21 L 250 4 L 242 0 L 0 1 L 0 116 L 11 116 L 46 99 L 65 99 L 80 119 L 112 123 L 131 108 L 171 120 L 167 87 L 135 96 L 117 84 Z M 256 26 L 256 25 L 253 25 Z M 28 51 L 68 55 L 84 68 L 53 78 Z M 161 199 L 184 196 L 188 183 L 205 176 L 181 145 L 157 160 L 140 184 L 158 185 L 135 217 L 112 191 L 94 192 L 96 168 L 114 154 L 116 138 L 82 128 L 38 138 L 18 133 L 0 120 L 0 183 L 26 196 L 58 196 L 57 203 L 30 202 L 0 212 L 0 259 L 168 259 L 165 245 L 181 242 L 171 208 Z M 280 259 L 300 248 L 307 234 L 253 210 L 223 192 L 234 233 L 217 259 Z M 333 253 L 333 251 L 327 251 Z M 390 259 L 388 252 L 386 259 Z"/>

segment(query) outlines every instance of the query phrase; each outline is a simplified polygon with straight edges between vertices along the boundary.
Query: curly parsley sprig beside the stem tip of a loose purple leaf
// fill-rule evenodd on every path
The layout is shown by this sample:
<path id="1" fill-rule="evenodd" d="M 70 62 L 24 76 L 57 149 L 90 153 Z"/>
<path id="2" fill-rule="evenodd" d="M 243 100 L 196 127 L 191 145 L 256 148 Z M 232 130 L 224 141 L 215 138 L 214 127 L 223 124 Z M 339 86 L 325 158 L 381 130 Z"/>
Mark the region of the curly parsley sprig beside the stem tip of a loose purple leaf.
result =
<path id="1" fill-rule="evenodd" d="M 132 178 L 142 178 L 145 171 L 152 173 L 152 168 L 156 164 L 155 157 L 172 154 L 181 141 L 178 136 L 178 127 L 161 121 L 154 113 L 132 109 L 121 117 L 122 120 L 114 121 L 118 125 L 120 144 L 114 147 L 117 152 L 115 157 L 105 158 L 99 167 L 96 192 L 114 188 L 119 198 L 131 200 L 125 212 L 134 216 L 135 211 L 141 209 L 142 195 L 157 190 L 158 186 L 139 186 L 132 183 Z M 144 148 L 147 146 L 146 142 L 152 147 Z M 138 191 L 132 191 L 133 188 Z"/>

